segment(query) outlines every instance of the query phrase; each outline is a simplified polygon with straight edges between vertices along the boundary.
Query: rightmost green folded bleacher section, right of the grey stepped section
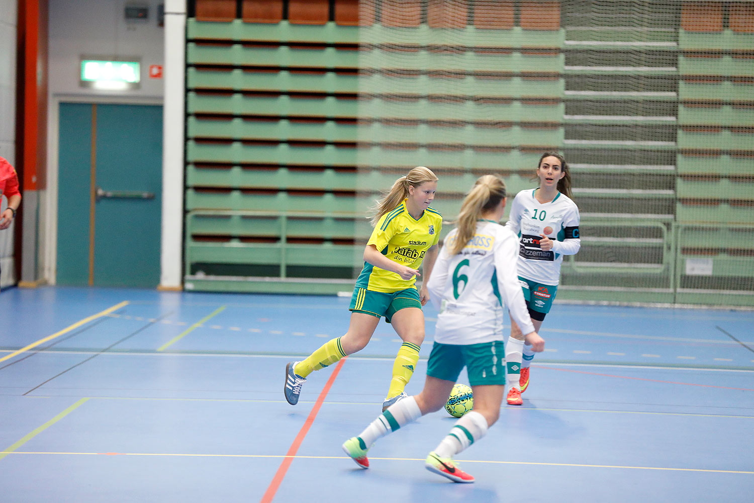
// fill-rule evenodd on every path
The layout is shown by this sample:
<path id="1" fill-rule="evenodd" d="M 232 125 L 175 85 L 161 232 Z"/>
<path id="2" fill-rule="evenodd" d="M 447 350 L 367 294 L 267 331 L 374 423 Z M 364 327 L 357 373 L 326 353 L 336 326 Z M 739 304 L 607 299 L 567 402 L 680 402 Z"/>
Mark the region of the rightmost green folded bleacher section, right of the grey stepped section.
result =
<path id="1" fill-rule="evenodd" d="M 688 17 L 679 48 L 677 283 L 679 302 L 703 302 L 754 284 L 752 5 Z"/>

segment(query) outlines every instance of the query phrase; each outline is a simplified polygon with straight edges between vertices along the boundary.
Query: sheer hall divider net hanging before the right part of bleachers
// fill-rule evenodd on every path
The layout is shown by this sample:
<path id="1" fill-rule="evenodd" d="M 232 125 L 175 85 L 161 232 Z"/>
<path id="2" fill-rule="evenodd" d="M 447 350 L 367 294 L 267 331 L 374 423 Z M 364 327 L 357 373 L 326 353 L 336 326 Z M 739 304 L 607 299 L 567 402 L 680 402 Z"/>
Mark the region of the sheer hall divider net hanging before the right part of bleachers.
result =
<path id="1" fill-rule="evenodd" d="M 559 298 L 754 305 L 754 2 L 362 0 L 362 187 L 411 167 L 455 219 L 562 152 L 581 252 Z M 446 223 L 446 231 L 452 225 Z"/>

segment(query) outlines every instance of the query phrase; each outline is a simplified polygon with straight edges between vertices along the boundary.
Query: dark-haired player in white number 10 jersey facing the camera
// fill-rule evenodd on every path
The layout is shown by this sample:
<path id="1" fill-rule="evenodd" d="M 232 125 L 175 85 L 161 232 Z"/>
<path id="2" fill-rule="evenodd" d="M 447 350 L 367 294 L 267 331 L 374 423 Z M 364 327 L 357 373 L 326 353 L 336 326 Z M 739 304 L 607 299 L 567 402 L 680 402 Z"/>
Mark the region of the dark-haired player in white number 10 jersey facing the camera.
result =
<path id="1" fill-rule="evenodd" d="M 545 152 L 539 158 L 536 176 L 539 186 L 516 195 L 505 226 L 520 236 L 519 280 L 532 323 L 539 330 L 558 290 L 563 256 L 578 253 L 581 240 L 578 207 L 571 199 L 571 173 L 566 159 Z M 521 394 L 529 387 L 532 359 L 534 352 L 525 345 L 522 330 L 511 321 L 505 345 L 509 405 L 523 403 Z"/>

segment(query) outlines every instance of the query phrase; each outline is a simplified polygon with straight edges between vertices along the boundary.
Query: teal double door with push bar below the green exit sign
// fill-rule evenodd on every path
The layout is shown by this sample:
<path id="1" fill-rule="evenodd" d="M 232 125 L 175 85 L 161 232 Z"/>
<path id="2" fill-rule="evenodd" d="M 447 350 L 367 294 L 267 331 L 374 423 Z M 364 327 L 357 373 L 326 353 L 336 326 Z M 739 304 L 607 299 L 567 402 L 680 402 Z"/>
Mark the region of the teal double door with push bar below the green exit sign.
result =
<path id="1" fill-rule="evenodd" d="M 57 284 L 160 282 L 162 107 L 60 103 Z"/>

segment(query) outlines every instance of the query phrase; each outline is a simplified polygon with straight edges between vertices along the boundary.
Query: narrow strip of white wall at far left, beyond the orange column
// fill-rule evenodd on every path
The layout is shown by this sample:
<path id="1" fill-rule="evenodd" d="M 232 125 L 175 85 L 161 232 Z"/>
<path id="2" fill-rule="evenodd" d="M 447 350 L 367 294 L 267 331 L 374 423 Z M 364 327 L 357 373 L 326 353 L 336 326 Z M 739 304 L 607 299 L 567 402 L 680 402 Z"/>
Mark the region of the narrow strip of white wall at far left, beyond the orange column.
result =
<path id="1" fill-rule="evenodd" d="M 17 0 L 0 0 L 0 156 L 16 162 Z M 8 201 L 2 197 L 0 207 Z M 16 225 L 15 222 L 13 225 Z M 14 284 L 13 226 L 0 231 L 0 287 Z"/>

